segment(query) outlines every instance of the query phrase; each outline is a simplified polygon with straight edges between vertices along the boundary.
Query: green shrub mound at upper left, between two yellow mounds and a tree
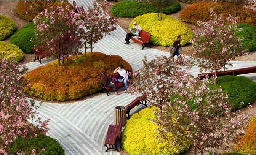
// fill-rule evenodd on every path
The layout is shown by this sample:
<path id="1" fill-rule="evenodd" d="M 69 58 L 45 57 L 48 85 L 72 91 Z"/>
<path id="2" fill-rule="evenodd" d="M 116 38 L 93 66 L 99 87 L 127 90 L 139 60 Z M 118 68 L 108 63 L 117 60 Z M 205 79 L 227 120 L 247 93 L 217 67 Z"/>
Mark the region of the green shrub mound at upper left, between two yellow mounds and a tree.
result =
<path id="1" fill-rule="evenodd" d="M 33 22 L 23 26 L 18 32 L 11 36 L 10 43 L 18 46 L 25 53 L 33 53 L 34 43 L 30 40 L 35 38 L 35 26 Z"/>

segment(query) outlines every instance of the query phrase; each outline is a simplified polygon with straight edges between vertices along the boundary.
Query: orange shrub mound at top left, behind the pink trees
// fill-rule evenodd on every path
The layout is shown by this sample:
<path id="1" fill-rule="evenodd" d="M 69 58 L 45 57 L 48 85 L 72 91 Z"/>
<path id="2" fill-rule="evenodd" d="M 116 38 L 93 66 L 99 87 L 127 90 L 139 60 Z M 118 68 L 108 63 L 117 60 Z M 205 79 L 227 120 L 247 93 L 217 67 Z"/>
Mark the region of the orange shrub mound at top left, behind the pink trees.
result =
<path id="1" fill-rule="evenodd" d="M 64 6 L 66 4 L 68 4 L 70 6 L 70 9 L 72 9 L 72 5 L 68 1 L 63 1 L 62 3 L 57 0 L 20 0 L 16 6 L 16 12 L 18 16 L 21 17 L 22 19 L 25 19 L 26 21 L 32 21 L 38 13 L 44 11 L 45 9 L 50 9 L 52 6 L 54 9 L 56 6 Z"/>

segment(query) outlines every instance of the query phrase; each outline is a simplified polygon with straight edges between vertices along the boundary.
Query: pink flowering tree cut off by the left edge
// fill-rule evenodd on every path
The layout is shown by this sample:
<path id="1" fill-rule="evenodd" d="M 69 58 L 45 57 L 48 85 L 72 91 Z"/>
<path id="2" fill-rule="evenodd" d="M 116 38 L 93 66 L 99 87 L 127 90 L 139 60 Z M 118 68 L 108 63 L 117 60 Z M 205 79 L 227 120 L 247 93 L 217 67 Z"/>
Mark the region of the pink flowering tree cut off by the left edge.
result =
<path id="1" fill-rule="evenodd" d="M 24 79 L 27 69 L 14 59 L 2 59 L 0 65 L 0 154 L 5 154 L 18 136 L 46 133 L 49 120 L 42 121 L 37 116 L 40 105 L 24 95 L 23 88 L 29 86 Z"/>

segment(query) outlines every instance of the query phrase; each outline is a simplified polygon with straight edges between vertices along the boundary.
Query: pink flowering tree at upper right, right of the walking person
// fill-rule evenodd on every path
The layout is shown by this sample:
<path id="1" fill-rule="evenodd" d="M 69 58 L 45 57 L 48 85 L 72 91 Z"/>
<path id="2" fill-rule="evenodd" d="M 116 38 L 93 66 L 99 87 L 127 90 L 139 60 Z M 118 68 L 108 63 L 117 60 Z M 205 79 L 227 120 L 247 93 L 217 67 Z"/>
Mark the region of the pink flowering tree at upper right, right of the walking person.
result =
<path id="1" fill-rule="evenodd" d="M 224 18 L 219 17 L 210 10 L 211 19 L 207 22 L 198 21 L 198 32 L 192 40 L 194 53 L 193 57 L 197 60 L 200 71 L 211 70 L 215 74 L 224 68 L 236 55 L 243 54 L 241 38 L 238 38 L 237 17 L 229 15 Z M 215 79 L 216 83 L 216 79 Z"/>

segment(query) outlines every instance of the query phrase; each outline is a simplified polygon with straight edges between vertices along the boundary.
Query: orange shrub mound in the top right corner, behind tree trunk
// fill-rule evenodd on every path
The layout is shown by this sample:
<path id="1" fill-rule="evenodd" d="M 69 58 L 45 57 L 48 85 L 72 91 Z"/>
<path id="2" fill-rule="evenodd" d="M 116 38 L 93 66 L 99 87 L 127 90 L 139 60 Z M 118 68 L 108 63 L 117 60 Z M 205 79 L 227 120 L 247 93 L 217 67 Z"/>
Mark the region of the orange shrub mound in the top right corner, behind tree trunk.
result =
<path id="1" fill-rule="evenodd" d="M 213 8 L 214 13 L 223 14 L 224 17 L 227 17 L 230 12 L 233 11 L 231 9 L 234 9 L 226 9 L 224 5 L 221 5 L 218 2 L 213 3 L 211 1 L 202 1 L 182 9 L 179 13 L 179 17 L 182 21 L 192 24 L 197 24 L 197 21 L 199 20 L 205 22 L 210 20 L 210 8 Z M 243 8 L 241 23 L 256 25 L 256 12 L 248 8 Z"/>

